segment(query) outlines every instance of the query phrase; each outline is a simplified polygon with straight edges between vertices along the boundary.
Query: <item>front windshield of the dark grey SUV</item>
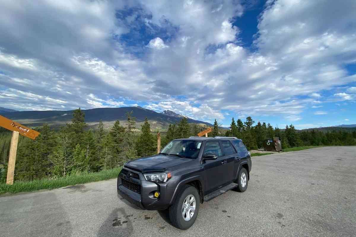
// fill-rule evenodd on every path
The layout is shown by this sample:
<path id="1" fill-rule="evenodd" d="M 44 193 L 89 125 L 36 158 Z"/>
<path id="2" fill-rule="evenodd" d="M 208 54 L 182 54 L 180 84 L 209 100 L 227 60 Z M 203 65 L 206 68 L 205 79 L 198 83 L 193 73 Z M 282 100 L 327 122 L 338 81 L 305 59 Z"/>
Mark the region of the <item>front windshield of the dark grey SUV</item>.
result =
<path id="1" fill-rule="evenodd" d="M 174 140 L 163 148 L 161 153 L 179 155 L 188 158 L 197 158 L 200 151 L 201 141 Z"/>

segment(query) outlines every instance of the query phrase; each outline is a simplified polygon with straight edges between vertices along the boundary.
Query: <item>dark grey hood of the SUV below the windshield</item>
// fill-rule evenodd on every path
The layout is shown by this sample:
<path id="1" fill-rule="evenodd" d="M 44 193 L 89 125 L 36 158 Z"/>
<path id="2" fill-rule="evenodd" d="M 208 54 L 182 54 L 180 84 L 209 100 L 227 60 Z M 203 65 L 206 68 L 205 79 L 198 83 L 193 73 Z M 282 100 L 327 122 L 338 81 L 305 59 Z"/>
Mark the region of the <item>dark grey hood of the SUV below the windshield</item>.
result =
<path id="1" fill-rule="evenodd" d="M 125 164 L 125 167 L 132 168 L 134 170 L 136 169 L 142 173 L 165 172 L 169 171 L 169 169 L 173 166 L 181 165 L 190 161 L 192 161 L 190 158 L 158 154 L 129 161 Z"/>

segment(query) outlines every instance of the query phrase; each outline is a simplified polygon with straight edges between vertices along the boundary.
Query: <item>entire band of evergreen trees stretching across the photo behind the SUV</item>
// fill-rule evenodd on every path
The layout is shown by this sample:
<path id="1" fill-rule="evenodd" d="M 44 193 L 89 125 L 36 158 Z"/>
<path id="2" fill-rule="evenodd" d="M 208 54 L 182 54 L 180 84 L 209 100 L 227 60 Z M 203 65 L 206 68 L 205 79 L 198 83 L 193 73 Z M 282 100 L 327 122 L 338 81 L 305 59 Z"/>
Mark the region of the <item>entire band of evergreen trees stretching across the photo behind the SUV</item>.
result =
<path id="1" fill-rule="evenodd" d="M 248 150 L 262 147 L 266 138 L 274 136 L 280 138 L 283 149 L 304 145 L 356 145 L 356 131 L 298 132 L 292 124 L 287 125 L 284 130 L 273 128 L 269 123 L 254 124 L 255 121 L 251 117 L 247 117 L 245 122 L 232 118 L 230 128 L 226 130 L 220 128 L 215 120 L 209 136 L 235 136 L 244 141 Z M 15 180 L 98 172 L 157 152 L 157 138 L 152 134 L 147 118 L 141 125 L 140 133 L 134 131 L 136 119 L 132 116 L 132 111 L 126 113 L 124 125 L 116 120 L 112 127 L 104 129 L 100 120 L 97 129 L 88 129 L 85 114 L 80 108 L 74 110 L 72 122 L 58 131 L 51 129 L 48 124 L 43 124 L 35 129 L 40 132 L 36 140 L 20 136 Z M 171 140 L 197 136 L 207 128 L 206 125 L 189 124 L 188 119 L 183 117 L 178 123 L 169 124 L 166 136 L 162 136 L 161 148 Z M 6 181 L 10 140 L 11 132 L 1 130 L 0 163 L 4 168 L 0 174 L 0 182 Z"/>

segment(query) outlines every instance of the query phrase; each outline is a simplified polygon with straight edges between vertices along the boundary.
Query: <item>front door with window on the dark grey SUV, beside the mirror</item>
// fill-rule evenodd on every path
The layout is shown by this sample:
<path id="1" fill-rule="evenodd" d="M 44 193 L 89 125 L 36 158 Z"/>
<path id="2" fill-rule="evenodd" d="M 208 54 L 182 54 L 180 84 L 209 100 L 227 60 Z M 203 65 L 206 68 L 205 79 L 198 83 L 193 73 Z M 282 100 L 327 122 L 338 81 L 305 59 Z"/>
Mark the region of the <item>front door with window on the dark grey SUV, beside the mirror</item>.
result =
<path id="1" fill-rule="evenodd" d="M 206 153 L 214 153 L 218 158 L 215 160 L 203 160 L 205 176 L 205 193 L 218 189 L 225 182 L 227 172 L 226 159 L 221 151 L 219 141 L 208 141 L 205 143 L 203 157 Z"/>

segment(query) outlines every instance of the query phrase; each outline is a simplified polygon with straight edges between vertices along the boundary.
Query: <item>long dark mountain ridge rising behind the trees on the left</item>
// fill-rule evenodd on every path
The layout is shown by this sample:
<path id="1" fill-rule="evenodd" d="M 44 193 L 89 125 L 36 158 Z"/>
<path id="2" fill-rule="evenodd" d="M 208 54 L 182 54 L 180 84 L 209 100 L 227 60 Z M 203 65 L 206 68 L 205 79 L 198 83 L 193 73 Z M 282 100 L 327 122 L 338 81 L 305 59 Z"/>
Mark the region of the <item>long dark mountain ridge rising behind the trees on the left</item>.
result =
<path id="1" fill-rule="evenodd" d="M 179 122 L 182 117 L 174 117 L 164 113 L 157 113 L 150 109 L 145 109 L 140 106 L 136 107 L 120 107 L 120 108 L 96 108 L 83 109 L 85 113 L 85 122 L 91 127 L 98 125 L 100 119 L 103 120 L 105 128 L 112 126 L 116 120 L 120 123 L 126 124 L 126 113 L 133 111 L 132 116 L 136 118 L 136 128 L 145 121 L 145 118 L 150 121 L 151 129 L 167 129 L 171 123 Z M 168 112 L 169 113 L 169 112 Z M 174 112 L 173 112 L 174 113 Z M 53 127 L 63 126 L 70 123 L 72 119 L 73 110 L 69 111 L 17 111 L 17 112 L 0 112 L 6 118 L 16 120 L 17 122 L 28 126 L 41 126 L 43 123 L 48 123 Z M 199 123 L 212 126 L 210 123 L 202 122 L 187 118 L 188 123 Z"/>

